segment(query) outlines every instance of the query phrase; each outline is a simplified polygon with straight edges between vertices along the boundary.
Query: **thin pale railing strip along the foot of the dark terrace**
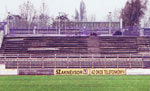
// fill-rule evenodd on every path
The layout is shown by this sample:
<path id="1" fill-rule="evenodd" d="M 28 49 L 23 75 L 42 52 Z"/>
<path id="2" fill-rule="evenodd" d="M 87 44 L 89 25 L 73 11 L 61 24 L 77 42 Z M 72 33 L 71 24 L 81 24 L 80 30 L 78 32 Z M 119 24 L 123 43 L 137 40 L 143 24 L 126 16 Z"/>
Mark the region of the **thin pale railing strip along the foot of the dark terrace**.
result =
<path id="1" fill-rule="evenodd" d="M 0 54 L 0 58 L 150 58 L 150 54 Z"/>

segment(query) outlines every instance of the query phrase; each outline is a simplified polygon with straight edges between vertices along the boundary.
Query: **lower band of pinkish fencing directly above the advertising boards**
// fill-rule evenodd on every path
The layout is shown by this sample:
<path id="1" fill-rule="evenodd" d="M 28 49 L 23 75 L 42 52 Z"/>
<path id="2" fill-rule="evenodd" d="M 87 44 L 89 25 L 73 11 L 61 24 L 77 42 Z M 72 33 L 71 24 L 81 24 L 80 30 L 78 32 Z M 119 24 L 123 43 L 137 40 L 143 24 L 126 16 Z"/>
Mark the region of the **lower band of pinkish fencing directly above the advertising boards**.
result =
<path id="1" fill-rule="evenodd" d="M 36 59 L 35 59 L 36 60 Z M 150 68 L 150 61 L 137 60 L 38 60 L 27 59 L 5 61 L 6 69 L 22 68 Z"/>

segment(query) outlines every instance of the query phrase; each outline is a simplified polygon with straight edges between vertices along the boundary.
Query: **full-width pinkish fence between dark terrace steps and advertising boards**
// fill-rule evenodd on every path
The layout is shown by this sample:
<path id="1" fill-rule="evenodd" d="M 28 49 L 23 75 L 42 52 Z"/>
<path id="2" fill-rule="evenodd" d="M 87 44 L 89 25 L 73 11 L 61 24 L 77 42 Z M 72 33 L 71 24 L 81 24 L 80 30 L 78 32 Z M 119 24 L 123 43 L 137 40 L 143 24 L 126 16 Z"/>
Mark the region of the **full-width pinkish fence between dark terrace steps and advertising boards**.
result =
<path id="1" fill-rule="evenodd" d="M 1 54 L 6 69 L 22 68 L 150 68 L 150 55 Z"/>

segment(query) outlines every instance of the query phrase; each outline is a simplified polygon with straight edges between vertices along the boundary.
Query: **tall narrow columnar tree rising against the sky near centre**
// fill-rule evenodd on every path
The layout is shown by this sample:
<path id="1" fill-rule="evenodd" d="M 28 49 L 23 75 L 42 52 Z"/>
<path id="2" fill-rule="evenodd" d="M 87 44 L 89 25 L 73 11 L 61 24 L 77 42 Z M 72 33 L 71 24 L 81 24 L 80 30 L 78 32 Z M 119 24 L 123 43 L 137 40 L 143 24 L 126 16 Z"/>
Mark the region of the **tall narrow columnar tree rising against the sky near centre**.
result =
<path id="1" fill-rule="evenodd" d="M 80 2 L 80 20 L 86 21 L 86 6 L 83 0 Z"/>

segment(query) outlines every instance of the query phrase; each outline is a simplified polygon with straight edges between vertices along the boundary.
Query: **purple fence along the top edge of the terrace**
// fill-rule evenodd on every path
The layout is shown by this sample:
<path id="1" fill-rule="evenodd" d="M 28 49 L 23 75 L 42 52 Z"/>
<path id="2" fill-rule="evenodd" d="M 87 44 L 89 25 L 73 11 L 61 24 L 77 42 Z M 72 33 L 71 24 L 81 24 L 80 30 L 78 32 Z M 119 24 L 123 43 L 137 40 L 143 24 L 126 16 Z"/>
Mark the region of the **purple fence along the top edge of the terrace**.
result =
<path id="1" fill-rule="evenodd" d="M 119 28 L 112 28 L 112 33 L 115 31 L 120 30 Z M 75 28 L 68 28 L 68 29 L 60 29 L 60 34 L 90 34 L 90 33 L 97 33 L 97 34 L 109 34 L 109 28 L 101 28 L 96 30 L 85 30 L 85 29 L 75 29 Z M 51 28 L 51 29 L 10 29 L 10 34 L 59 34 L 59 29 Z"/>

